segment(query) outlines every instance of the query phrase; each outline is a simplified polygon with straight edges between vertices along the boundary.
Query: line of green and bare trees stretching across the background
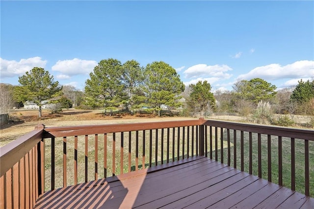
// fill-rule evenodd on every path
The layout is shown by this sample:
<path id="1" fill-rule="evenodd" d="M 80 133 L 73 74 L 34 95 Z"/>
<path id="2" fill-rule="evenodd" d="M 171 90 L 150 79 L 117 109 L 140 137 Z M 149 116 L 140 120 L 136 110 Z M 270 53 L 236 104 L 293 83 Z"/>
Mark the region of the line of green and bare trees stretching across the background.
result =
<path id="1" fill-rule="evenodd" d="M 49 71 L 38 67 L 19 77 L 19 83 L 19 86 L 1 84 L 1 105 L 4 101 L 9 107 L 33 102 L 39 106 L 39 117 L 44 100 L 62 104 L 60 108 L 73 104 L 84 108 L 101 107 L 110 114 L 113 109 L 123 106 L 131 113 L 147 107 L 160 116 L 161 106 L 166 105 L 181 106 L 185 116 L 228 112 L 244 117 L 254 114 L 261 106 L 265 108 L 267 105 L 261 104 L 262 101 L 272 105 L 272 110 L 278 114 L 314 115 L 313 80 L 300 80 L 293 90 L 276 91 L 275 85 L 262 78 L 253 78 L 236 82 L 232 91 L 213 94 L 206 80 L 184 86 L 176 70 L 163 61 L 142 67 L 136 60 L 125 63 L 113 58 L 101 60 L 89 74 L 84 92 L 73 86 L 59 85 Z M 2 105 L 1 111 L 4 109 Z"/>

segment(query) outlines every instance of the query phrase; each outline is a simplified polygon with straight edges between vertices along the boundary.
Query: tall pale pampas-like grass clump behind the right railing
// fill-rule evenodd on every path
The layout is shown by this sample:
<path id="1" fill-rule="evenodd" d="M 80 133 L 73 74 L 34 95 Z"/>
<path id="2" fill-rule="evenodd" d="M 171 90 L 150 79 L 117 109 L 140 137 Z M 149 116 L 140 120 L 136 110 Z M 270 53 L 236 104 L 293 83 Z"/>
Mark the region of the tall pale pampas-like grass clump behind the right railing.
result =
<path id="1" fill-rule="evenodd" d="M 252 116 L 253 122 L 258 124 L 272 124 L 272 111 L 271 111 L 271 105 L 266 102 L 259 102 L 255 112 Z"/>

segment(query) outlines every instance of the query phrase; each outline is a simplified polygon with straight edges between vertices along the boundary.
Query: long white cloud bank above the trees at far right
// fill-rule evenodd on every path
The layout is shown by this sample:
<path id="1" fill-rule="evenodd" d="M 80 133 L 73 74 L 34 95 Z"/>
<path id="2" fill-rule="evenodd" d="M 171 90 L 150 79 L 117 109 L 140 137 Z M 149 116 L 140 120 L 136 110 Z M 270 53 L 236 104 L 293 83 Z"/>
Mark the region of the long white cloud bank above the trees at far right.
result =
<path id="1" fill-rule="evenodd" d="M 267 80 L 276 80 L 282 78 L 314 78 L 314 61 L 301 60 L 292 64 L 281 66 L 280 64 L 270 64 L 254 68 L 247 74 L 240 75 L 236 80 L 262 78 Z"/>

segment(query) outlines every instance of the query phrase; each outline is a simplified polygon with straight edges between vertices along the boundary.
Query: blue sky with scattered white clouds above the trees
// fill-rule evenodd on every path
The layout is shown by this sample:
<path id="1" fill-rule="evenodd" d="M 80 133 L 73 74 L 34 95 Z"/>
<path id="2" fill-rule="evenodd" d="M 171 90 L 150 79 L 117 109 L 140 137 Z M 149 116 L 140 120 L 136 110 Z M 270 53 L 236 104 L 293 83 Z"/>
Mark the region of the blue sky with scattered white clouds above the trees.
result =
<path id="1" fill-rule="evenodd" d="M 164 61 L 188 85 L 314 79 L 314 1 L 0 1 L 0 82 L 33 67 L 83 89 L 102 59 Z"/>

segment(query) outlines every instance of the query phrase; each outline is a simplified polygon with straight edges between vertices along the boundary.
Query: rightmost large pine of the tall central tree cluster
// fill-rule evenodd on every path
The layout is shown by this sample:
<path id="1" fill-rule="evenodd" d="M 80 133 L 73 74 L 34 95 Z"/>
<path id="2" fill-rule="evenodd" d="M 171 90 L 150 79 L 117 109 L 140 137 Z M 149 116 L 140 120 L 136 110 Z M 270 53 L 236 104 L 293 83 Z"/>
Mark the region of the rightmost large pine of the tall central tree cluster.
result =
<path id="1" fill-rule="evenodd" d="M 144 92 L 147 103 L 158 111 L 160 116 L 160 105 L 179 106 L 180 94 L 184 91 L 184 84 L 176 70 L 163 61 L 155 61 L 148 64 L 144 72 Z"/>

